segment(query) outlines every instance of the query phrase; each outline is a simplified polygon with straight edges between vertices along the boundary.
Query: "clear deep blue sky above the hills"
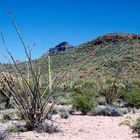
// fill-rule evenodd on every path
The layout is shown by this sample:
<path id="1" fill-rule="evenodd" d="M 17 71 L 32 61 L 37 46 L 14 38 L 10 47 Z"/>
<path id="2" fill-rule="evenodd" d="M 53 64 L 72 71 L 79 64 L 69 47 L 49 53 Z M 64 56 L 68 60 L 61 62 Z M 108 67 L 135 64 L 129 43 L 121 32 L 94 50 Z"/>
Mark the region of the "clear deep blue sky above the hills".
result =
<path id="1" fill-rule="evenodd" d="M 34 58 L 62 41 L 79 45 L 107 33 L 140 33 L 140 0 L 0 0 L 0 28 L 21 61 L 25 55 L 9 10 L 27 45 L 36 42 Z M 0 51 L 5 53 L 1 39 Z"/>

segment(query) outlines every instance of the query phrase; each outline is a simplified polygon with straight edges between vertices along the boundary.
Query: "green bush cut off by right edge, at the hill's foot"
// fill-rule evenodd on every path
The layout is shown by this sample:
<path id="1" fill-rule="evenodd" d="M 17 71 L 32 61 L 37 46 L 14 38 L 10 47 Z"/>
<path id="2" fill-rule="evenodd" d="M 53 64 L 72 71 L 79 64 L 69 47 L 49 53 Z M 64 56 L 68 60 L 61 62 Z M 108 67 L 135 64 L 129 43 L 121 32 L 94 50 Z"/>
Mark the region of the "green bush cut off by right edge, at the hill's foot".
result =
<path id="1" fill-rule="evenodd" d="M 133 88 L 128 93 L 125 93 L 125 100 L 127 100 L 132 107 L 140 108 L 140 88 Z"/>

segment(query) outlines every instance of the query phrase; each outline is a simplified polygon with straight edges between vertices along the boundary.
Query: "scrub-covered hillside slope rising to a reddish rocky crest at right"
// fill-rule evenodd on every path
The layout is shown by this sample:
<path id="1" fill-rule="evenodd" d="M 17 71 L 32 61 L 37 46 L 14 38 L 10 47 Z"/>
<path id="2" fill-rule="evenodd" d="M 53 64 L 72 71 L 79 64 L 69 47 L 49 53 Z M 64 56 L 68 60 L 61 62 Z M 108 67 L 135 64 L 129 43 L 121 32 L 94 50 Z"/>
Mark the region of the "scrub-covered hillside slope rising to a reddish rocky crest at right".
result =
<path id="1" fill-rule="evenodd" d="M 41 63 L 42 59 L 44 57 L 41 57 L 38 63 Z M 26 74 L 25 63 L 19 65 Z M 46 75 L 47 62 L 45 66 Z M 9 65 L 6 67 L 12 71 Z M 61 75 L 66 69 L 70 69 L 68 76 L 71 76 L 74 70 L 80 69 L 74 75 L 75 79 L 92 79 L 93 71 L 96 70 L 102 75 L 138 80 L 140 79 L 140 35 L 116 33 L 98 37 L 51 55 L 51 68 L 53 75 Z"/>

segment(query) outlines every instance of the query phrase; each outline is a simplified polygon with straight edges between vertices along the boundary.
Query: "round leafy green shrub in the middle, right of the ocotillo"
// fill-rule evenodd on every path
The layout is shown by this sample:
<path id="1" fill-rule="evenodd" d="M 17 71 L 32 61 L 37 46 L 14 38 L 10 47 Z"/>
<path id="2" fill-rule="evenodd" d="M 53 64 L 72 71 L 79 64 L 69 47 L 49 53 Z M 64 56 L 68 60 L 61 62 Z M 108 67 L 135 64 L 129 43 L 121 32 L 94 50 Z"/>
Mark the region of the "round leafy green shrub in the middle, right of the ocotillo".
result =
<path id="1" fill-rule="evenodd" d="M 82 114 L 87 114 L 95 106 L 96 92 L 90 88 L 77 88 L 71 96 L 72 107 L 78 111 L 81 111 Z"/>

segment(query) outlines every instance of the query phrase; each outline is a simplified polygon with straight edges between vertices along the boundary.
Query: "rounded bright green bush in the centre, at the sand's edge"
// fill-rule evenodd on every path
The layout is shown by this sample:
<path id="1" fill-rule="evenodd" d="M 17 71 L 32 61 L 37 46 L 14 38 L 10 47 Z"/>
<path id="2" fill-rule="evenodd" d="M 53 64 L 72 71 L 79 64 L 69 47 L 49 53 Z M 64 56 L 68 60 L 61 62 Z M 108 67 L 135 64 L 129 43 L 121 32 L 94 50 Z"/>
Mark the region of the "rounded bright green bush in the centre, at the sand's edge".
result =
<path id="1" fill-rule="evenodd" d="M 71 96 L 72 107 L 81 111 L 83 115 L 95 108 L 97 91 L 93 82 L 85 82 L 74 87 Z"/>

